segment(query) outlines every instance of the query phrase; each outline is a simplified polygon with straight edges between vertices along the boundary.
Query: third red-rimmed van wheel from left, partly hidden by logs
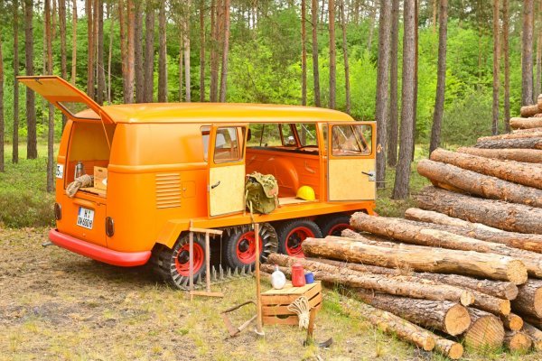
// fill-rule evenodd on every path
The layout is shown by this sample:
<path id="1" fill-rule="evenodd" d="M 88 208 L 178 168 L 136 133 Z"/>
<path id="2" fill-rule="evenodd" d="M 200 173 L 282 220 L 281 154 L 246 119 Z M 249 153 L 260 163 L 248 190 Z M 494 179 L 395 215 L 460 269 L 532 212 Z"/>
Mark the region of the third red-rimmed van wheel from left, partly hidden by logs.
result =
<path id="1" fill-rule="evenodd" d="M 304 257 L 301 244 L 307 237 L 321 238 L 318 225 L 309 219 L 292 219 L 276 227 L 278 252 L 295 257 Z"/>

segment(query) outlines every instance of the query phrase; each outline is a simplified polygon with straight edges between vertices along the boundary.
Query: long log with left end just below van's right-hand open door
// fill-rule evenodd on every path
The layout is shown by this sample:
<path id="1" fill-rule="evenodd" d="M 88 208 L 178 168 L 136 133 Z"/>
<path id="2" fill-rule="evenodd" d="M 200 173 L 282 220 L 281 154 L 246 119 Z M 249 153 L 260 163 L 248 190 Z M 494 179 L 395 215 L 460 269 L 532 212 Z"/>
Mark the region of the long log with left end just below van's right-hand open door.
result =
<path id="1" fill-rule="evenodd" d="M 519 262 L 525 264 L 529 274 L 542 277 L 542 258 L 534 252 L 440 231 L 430 228 L 432 225 L 429 223 L 419 223 L 402 218 L 375 217 L 357 212 L 351 216 L 350 226 L 360 231 L 378 236 L 388 236 L 415 245 L 509 256 L 510 259 L 521 260 Z M 521 284 L 527 282 L 527 279 L 519 283 L 512 280 L 508 281 Z"/>

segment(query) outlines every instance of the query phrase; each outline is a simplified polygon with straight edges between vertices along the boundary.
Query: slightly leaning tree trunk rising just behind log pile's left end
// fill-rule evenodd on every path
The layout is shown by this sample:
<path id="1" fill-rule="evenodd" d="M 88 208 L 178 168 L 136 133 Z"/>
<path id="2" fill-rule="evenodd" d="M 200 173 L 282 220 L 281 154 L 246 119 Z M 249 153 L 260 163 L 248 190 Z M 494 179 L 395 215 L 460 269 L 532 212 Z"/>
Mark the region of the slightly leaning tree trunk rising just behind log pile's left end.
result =
<path id="1" fill-rule="evenodd" d="M 436 0 L 434 0 L 436 11 Z M 435 19 L 436 20 L 436 19 Z M 434 25 L 436 26 L 436 25 Z M 444 91 L 446 89 L 446 39 L 448 31 L 448 0 L 440 0 L 439 29 L 438 29 L 438 69 L 436 73 L 435 112 L 431 128 L 431 143 L 429 153 L 435 151 L 440 144 L 440 134 L 444 116 Z"/>

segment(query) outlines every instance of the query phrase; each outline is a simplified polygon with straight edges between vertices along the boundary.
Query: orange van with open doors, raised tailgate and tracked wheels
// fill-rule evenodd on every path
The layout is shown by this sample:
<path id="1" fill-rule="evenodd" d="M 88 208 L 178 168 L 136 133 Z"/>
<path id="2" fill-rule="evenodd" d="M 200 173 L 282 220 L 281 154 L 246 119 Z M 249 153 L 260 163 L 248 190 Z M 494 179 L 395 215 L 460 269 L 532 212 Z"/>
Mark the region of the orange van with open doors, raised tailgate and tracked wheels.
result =
<path id="1" fill-rule="evenodd" d="M 242 267 L 256 259 L 252 217 L 262 224 L 263 260 L 277 249 L 303 256 L 306 237 L 339 234 L 354 211 L 373 214 L 374 122 L 307 106 L 98 106 L 61 78 L 18 79 L 68 117 L 49 236 L 79 255 L 118 266 L 151 263 L 182 288 L 191 221 L 225 231 L 211 240 L 214 263 Z M 107 178 L 96 181 L 95 169 Z M 76 171 L 95 175 L 95 185 L 70 198 L 66 188 Z M 253 171 L 278 182 L 279 206 L 269 214 L 251 216 L 245 207 L 246 175 Z M 296 197 L 302 187 L 313 199 Z M 205 272 L 198 236 L 192 252 L 198 277 Z"/>

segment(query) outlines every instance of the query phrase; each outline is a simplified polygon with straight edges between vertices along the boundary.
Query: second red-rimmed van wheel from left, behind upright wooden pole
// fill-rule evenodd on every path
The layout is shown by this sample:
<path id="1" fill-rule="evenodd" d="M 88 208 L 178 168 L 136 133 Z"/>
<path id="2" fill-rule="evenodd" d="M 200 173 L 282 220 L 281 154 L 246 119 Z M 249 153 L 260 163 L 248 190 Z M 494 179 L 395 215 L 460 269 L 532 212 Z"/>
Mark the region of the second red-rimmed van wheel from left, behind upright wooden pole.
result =
<path id="1" fill-rule="evenodd" d="M 275 228 L 268 223 L 260 225 L 260 262 L 276 252 L 277 241 Z M 224 261 L 231 268 L 253 267 L 256 262 L 256 236 L 254 229 L 246 225 L 229 230 L 226 238 Z"/>

